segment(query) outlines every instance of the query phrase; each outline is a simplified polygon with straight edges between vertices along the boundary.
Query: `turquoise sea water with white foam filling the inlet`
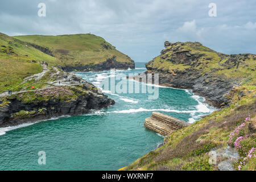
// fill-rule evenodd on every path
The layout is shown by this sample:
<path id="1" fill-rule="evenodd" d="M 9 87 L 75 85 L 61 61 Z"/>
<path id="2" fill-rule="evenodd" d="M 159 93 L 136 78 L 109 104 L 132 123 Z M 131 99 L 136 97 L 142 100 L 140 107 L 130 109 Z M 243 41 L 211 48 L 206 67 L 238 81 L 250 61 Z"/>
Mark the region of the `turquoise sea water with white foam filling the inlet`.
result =
<path id="1" fill-rule="evenodd" d="M 142 63 L 137 63 L 136 68 L 117 71 L 116 76 L 146 71 Z M 109 71 L 76 75 L 97 86 L 102 79 L 111 78 Z M 156 100 L 148 100 L 144 93 L 113 93 L 104 88 L 103 92 L 116 101 L 107 109 L 0 129 L 0 169 L 116 170 L 163 142 L 161 135 L 143 126 L 152 111 L 193 122 L 214 110 L 191 90 L 152 88 L 159 89 Z M 38 164 L 39 151 L 46 152 L 46 165 Z"/>

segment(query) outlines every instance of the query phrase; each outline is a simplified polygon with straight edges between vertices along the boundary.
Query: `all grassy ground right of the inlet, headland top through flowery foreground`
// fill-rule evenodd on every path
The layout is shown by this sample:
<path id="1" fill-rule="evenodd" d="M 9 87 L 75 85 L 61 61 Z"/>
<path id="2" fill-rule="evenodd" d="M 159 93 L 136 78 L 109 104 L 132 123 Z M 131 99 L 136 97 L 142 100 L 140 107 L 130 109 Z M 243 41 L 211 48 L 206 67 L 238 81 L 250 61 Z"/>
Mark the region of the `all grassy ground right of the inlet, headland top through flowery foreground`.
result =
<path id="1" fill-rule="evenodd" d="M 224 55 L 192 42 L 166 42 L 165 47 L 161 55 L 147 63 L 148 72 L 163 73 L 162 77 L 169 74 L 174 79 L 177 77 L 176 80 L 181 73 L 191 78 L 197 73 L 200 77 L 207 75 L 210 79 L 204 80 L 205 88 L 211 83 L 214 85 L 215 78 L 219 77 L 223 77 L 223 81 L 232 78 L 240 82 L 225 95 L 229 105 L 174 131 L 164 139 L 162 147 L 122 170 L 218 170 L 218 164 L 228 161 L 229 156 L 218 155 L 217 163 L 210 164 L 209 152 L 221 154 L 225 150 L 234 150 L 240 155 L 238 161 L 230 162 L 234 169 L 255 170 L 256 56 Z"/>

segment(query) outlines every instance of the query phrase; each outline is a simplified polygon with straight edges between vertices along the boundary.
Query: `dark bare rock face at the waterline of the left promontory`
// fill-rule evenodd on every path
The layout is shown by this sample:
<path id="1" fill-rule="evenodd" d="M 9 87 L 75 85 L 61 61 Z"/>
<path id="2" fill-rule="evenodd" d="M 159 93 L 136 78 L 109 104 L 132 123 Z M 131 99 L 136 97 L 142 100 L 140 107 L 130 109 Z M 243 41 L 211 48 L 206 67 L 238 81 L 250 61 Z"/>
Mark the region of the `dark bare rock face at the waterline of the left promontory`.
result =
<path id="1" fill-rule="evenodd" d="M 59 101 L 48 100 L 42 102 L 26 103 L 16 98 L 10 100 L 10 104 L 0 107 L 0 127 L 14 126 L 26 122 L 35 122 L 61 115 L 78 115 L 89 113 L 90 110 L 98 110 L 115 104 L 115 102 L 104 94 L 89 93 L 82 94 L 76 100 Z M 42 111 L 38 111 L 42 109 Z M 14 118 L 12 115 L 21 110 L 28 112 L 36 111 L 28 118 Z"/>

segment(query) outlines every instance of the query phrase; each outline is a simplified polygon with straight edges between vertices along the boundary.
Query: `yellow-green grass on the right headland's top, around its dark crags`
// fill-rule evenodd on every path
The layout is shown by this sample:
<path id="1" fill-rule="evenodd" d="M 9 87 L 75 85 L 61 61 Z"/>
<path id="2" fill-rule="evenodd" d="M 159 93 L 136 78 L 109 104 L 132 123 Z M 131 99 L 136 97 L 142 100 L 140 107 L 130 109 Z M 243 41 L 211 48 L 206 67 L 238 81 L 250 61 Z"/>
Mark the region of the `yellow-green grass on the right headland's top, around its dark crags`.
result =
<path id="1" fill-rule="evenodd" d="M 227 68 L 224 67 L 222 64 L 225 63 L 226 60 L 230 58 L 229 55 L 224 55 L 222 53 L 218 53 L 213 51 L 212 49 L 201 45 L 200 43 L 195 42 L 177 42 L 174 46 L 169 46 L 166 49 L 170 49 L 164 55 L 170 57 L 172 54 L 175 53 L 174 49 L 180 49 L 182 51 L 189 51 L 191 54 L 200 54 L 201 56 L 198 60 L 196 60 L 196 64 L 199 64 L 198 67 L 193 67 L 197 71 L 200 71 L 201 74 L 207 73 L 209 71 L 213 71 L 213 69 L 218 69 L 216 71 L 216 76 L 218 75 L 225 75 L 227 78 L 233 77 L 255 77 L 255 58 L 256 55 L 249 55 L 245 61 L 241 60 L 242 63 L 236 69 L 234 68 Z M 152 61 L 148 63 L 148 66 L 154 69 L 163 69 L 163 70 L 170 70 L 175 71 L 177 69 L 184 70 L 186 68 L 191 68 L 191 65 L 186 64 L 174 64 L 167 59 L 162 58 L 163 55 L 159 55 L 155 57 Z M 242 59 L 242 58 L 241 58 Z M 253 70 L 254 69 L 254 70 Z"/>

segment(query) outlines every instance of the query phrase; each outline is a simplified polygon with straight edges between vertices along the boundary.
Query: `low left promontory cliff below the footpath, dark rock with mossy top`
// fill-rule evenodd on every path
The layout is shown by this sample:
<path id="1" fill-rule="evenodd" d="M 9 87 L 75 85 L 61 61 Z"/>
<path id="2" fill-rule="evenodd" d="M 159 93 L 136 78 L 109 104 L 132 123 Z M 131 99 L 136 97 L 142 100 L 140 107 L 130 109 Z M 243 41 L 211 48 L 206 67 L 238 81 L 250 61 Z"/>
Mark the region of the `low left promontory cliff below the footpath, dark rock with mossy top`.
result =
<path id="1" fill-rule="evenodd" d="M 54 96 L 56 92 L 58 93 Z M 46 96 L 46 94 L 50 95 Z M 19 92 L 0 100 L 0 127 L 35 122 L 61 115 L 85 114 L 92 109 L 102 109 L 114 103 L 89 83 L 76 87 L 54 87 Z"/>

